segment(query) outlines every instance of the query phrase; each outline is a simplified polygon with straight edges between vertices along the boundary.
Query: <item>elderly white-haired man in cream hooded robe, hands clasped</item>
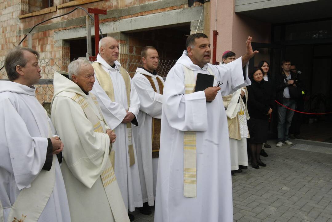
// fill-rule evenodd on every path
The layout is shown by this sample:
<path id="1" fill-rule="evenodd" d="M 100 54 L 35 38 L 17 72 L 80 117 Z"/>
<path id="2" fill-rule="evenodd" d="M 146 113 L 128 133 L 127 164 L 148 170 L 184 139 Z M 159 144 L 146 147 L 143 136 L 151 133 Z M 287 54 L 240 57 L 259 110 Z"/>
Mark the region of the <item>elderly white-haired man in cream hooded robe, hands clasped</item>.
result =
<path id="1" fill-rule="evenodd" d="M 68 73 L 54 73 L 51 119 L 67 147 L 61 170 L 71 220 L 129 221 L 109 157 L 116 135 L 89 93 L 95 82 L 93 67 L 78 59 L 69 64 Z"/>

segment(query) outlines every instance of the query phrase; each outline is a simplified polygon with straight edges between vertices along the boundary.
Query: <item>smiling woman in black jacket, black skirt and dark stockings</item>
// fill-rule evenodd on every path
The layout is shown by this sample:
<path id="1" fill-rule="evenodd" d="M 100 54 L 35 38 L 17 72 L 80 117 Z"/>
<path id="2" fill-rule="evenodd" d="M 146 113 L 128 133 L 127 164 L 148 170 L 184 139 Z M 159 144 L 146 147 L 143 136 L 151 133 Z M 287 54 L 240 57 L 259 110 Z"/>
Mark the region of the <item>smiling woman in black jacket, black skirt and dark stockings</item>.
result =
<path id="1" fill-rule="evenodd" d="M 251 166 L 259 169 L 259 166 L 266 166 L 259 157 L 263 143 L 266 142 L 269 117 L 274 106 L 273 88 L 271 84 L 263 79 L 263 71 L 254 67 L 250 73 L 251 85 L 248 90 L 248 138 L 249 149 L 251 151 Z"/>

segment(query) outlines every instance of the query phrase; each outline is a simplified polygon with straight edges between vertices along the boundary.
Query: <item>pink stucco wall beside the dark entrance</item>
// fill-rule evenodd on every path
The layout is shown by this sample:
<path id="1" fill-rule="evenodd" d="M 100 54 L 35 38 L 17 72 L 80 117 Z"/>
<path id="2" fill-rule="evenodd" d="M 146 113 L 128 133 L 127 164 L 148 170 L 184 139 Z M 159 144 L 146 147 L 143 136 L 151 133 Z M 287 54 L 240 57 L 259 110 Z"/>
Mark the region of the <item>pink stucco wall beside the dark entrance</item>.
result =
<path id="1" fill-rule="evenodd" d="M 222 53 L 231 50 L 239 57 L 245 53 L 245 42 L 248 36 L 253 42 L 269 43 L 271 39 L 271 24 L 254 20 L 234 12 L 235 0 L 210 1 L 210 42 L 212 31 L 217 30 L 218 62 L 222 62 Z M 215 22 L 216 21 L 216 22 Z"/>

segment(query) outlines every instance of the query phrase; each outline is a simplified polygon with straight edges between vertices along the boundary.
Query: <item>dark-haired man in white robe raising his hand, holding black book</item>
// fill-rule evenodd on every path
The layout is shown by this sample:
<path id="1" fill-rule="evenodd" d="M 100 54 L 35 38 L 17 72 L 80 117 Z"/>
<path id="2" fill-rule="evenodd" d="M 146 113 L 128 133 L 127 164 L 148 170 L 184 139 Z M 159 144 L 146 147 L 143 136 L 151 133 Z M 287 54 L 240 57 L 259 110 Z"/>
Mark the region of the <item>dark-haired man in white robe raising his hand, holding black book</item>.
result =
<path id="1" fill-rule="evenodd" d="M 207 36 L 192 34 L 187 50 L 169 71 L 163 92 L 155 222 L 233 221 L 228 128 L 221 96 L 251 84 L 242 67 L 257 51 L 252 51 L 251 37 L 246 45 L 241 58 L 214 66 L 208 63 Z M 206 79 L 211 78 L 204 74 L 214 75 L 214 87 L 195 92 L 198 73 Z"/>

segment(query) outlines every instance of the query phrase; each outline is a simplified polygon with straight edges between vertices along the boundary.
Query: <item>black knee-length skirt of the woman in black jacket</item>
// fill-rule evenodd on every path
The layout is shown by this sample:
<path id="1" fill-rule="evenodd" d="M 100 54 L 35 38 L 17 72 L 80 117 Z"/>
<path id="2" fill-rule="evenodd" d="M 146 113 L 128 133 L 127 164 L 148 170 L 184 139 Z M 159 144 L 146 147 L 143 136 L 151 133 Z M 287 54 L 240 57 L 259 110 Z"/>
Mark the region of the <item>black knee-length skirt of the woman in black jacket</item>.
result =
<path id="1" fill-rule="evenodd" d="M 248 119 L 248 129 L 250 134 L 249 143 L 264 143 L 268 137 L 269 120 L 251 117 Z"/>

